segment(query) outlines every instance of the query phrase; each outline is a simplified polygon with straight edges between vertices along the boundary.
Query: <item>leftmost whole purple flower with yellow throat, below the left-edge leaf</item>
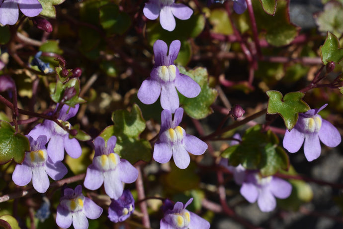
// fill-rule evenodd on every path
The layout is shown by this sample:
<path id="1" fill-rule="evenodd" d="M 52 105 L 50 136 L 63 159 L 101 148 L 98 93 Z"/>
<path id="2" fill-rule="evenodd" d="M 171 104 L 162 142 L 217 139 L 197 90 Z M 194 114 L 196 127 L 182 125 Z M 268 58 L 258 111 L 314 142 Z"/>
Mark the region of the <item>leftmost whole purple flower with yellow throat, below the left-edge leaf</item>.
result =
<path id="1" fill-rule="evenodd" d="M 15 166 L 12 180 L 19 186 L 27 185 L 32 180 L 33 188 L 45 193 L 50 185 L 48 175 L 56 181 L 62 179 L 68 170 L 62 162 L 53 163 L 48 157 L 45 135 L 40 135 L 36 141 L 26 136 L 30 141 L 31 152 L 25 152 L 24 162 Z"/>

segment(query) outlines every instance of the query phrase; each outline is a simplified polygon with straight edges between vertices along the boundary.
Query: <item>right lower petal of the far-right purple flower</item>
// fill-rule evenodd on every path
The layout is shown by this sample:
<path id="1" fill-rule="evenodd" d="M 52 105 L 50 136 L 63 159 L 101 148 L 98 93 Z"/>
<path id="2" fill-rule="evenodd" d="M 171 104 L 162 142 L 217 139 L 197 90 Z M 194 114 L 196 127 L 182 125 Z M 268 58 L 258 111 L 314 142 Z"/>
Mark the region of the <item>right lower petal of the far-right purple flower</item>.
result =
<path id="1" fill-rule="evenodd" d="M 329 147 L 336 147 L 341 143 L 341 134 L 329 121 L 322 119 L 322 127 L 319 130 L 319 139 Z"/>

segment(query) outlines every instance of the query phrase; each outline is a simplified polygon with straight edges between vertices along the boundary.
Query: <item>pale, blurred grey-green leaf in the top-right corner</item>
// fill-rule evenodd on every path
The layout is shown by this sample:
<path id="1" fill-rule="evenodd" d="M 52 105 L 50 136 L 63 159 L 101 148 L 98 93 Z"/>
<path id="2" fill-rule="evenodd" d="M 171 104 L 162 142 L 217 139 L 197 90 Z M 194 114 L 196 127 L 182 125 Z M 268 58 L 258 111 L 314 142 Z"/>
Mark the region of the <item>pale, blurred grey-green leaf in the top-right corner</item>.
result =
<path id="1" fill-rule="evenodd" d="M 315 14 L 318 30 L 322 33 L 328 31 L 336 36 L 343 33 L 343 5 L 337 1 L 330 1 L 324 6 L 324 11 Z"/>

